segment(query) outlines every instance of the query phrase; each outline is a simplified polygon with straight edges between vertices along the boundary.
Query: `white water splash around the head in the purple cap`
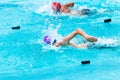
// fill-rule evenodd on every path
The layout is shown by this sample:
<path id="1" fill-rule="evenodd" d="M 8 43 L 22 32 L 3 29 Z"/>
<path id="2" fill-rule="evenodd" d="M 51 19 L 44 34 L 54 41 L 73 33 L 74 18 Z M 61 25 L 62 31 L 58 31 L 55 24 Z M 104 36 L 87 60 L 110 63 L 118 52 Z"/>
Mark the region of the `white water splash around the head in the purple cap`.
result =
<path id="1" fill-rule="evenodd" d="M 42 50 L 44 51 L 49 51 L 49 50 L 55 50 L 58 51 L 60 48 L 55 47 L 54 45 L 48 45 L 45 44 L 43 41 L 44 36 L 48 35 L 51 37 L 51 40 L 53 42 L 54 39 L 56 39 L 57 41 L 60 40 L 62 38 L 62 36 L 60 34 L 58 34 L 58 30 L 60 28 L 61 24 L 59 24 L 58 26 L 56 26 L 56 28 L 53 28 L 54 25 L 51 24 L 48 29 L 42 30 L 43 36 L 42 39 L 38 40 L 38 43 L 42 45 Z"/>

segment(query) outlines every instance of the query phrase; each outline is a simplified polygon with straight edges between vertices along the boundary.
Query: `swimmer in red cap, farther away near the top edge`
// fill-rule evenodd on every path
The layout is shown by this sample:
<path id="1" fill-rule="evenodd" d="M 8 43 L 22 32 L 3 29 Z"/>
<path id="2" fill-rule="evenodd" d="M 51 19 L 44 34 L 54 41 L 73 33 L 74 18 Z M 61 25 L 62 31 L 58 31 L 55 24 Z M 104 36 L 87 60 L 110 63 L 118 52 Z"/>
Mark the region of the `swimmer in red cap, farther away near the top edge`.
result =
<path id="1" fill-rule="evenodd" d="M 71 10 L 70 7 L 74 6 L 74 2 L 66 3 L 66 4 L 60 4 L 59 2 L 53 2 L 52 3 L 52 10 L 54 13 L 69 13 L 71 15 L 88 15 L 90 14 L 90 9 L 81 9 L 81 10 Z"/>

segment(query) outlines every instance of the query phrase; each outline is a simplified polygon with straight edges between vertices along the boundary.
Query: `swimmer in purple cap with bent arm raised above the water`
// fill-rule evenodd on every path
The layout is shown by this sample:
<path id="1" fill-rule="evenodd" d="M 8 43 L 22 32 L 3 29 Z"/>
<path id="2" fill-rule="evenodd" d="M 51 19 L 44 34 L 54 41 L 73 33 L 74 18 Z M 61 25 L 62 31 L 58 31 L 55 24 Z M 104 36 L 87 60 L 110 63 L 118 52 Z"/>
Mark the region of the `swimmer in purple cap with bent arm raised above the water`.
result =
<path id="1" fill-rule="evenodd" d="M 69 35 L 67 35 L 66 37 L 62 38 L 62 40 L 60 40 L 59 42 L 57 42 L 56 40 L 53 42 L 53 45 L 55 45 L 56 47 L 62 46 L 62 45 L 70 45 L 73 46 L 75 48 L 87 48 L 88 44 L 87 43 L 82 43 L 82 44 L 75 44 L 73 42 L 70 42 L 71 39 L 73 39 L 76 35 L 80 35 L 82 37 L 84 37 L 87 41 L 89 42 L 96 42 L 98 39 L 92 36 L 87 35 L 84 31 L 82 31 L 81 29 L 77 29 L 75 31 L 73 31 L 72 33 L 70 33 Z M 44 38 L 44 40 L 46 41 L 46 37 Z M 47 36 L 47 40 L 46 43 L 50 44 L 51 40 L 48 39 Z"/>

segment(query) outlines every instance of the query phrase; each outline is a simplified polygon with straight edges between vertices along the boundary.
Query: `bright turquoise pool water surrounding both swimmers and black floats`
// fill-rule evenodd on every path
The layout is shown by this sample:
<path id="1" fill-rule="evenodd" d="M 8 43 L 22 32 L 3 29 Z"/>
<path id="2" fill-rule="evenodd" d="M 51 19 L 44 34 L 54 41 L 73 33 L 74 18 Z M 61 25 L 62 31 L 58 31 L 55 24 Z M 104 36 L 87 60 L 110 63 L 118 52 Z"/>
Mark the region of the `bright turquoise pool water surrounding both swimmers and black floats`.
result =
<path id="1" fill-rule="evenodd" d="M 0 1 L 0 80 L 118 80 L 120 1 L 73 0 L 74 9 L 87 7 L 95 12 L 81 17 L 53 14 L 53 1 Z M 112 21 L 104 23 L 108 18 Z M 14 26 L 20 29 L 12 30 Z M 98 47 L 56 48 L 43 42 L 45 35 L 63 37 L 77 28 L 98 37 Z M 83 38 L 76 36 L 73 41 Z M 84 60 L 91 63 L 82 65 Z"/>

